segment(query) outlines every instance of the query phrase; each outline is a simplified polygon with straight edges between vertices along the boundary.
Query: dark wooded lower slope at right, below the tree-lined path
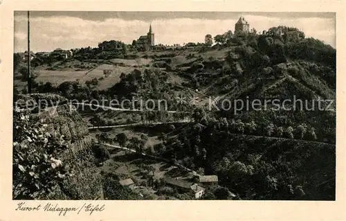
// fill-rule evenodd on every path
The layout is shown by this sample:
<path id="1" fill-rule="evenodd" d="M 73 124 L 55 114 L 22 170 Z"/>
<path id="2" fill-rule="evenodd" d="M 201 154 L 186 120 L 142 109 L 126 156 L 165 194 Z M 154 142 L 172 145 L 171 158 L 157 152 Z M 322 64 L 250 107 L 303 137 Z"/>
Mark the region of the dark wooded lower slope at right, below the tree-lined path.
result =
<path id="1" fill-rule="evenodd" d="M 233 134 L 214 122 L 183 128 L 158 154 L 217 174 L 242 200 L 335 200 L 335 145 L 328 143 Z"/>

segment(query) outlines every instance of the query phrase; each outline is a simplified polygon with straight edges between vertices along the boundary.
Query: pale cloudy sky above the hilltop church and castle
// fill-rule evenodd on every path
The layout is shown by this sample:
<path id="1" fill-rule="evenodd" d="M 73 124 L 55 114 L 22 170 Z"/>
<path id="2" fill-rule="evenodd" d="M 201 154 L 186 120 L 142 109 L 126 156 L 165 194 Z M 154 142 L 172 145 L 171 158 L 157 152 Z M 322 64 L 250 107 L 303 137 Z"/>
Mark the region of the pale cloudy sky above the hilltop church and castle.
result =
<path id="1" fill-rule="evenodd" d="M 336 18 L 332 12 L 30 12 L 30 50 L 53 51 L 96 47 L 105 40 L 131 44 L 146 35 L 149 25 L 155 44 L 203 42 L 212 36 L 234 31 L 244 16 L 257 32 L 273 26 L 295 26 L 306 37 L 314 37 L 336 47 Z M 15 52 L 27 49 L 27 12 L 15 12 Z"/>

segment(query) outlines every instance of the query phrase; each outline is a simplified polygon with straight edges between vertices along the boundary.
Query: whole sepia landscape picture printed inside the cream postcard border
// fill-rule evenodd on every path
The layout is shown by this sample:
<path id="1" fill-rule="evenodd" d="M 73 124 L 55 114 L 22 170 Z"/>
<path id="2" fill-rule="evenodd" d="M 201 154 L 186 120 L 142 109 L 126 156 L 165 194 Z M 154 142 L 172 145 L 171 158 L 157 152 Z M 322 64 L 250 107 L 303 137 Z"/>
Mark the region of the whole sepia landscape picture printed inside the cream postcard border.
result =
<path id="1" fill-rule="evenodd" d="M 336 12 L 12 13 L 13 211 L 336 202 Z"/>

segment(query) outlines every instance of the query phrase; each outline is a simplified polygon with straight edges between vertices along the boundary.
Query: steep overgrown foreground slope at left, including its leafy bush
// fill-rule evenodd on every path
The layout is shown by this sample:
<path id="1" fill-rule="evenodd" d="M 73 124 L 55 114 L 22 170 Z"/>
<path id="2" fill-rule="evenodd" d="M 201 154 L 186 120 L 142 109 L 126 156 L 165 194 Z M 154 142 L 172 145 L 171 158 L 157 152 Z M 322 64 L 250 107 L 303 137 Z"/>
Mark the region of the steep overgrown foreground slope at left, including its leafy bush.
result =
<path id="1" fill-rule="evenodd" d="M 19 96 L 26 100 L 51 99 L 44 112 L 14 112 L 13 198 L 15 200 L 95 200 L 103 198 L 109 177 L 98 168 L 95 139 L 75 109 L 55 94 Z M 20 107 L 20 106 L 19 106 Z M 24 106 L 21 106 L 24 107 Z M 116 177 L 113 185 L 122 189 Z M 120 186 L 120 187 L 119 187 Z M 125 189 L 120 199 L 131 191 Z M 107 191 L 105 192 L 108 193 Z"/>

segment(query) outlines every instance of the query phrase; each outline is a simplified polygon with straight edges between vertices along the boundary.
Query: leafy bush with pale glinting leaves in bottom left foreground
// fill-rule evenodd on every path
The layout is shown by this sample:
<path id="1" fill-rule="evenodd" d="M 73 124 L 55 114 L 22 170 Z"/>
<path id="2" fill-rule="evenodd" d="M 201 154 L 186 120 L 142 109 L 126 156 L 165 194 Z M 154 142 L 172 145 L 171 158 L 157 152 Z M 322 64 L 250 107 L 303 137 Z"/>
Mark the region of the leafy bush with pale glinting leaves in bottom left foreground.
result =
<path id="1" fill-rule="evenodd" d="M 58 157 L 67 148 L 66 141 L 46 132 L 46 125 L 34 125 L 25 113 L 16 111 L 13 122 L 13 199 L 35 200 L 54 194 L 57 185 L 72 175 Z"/>

